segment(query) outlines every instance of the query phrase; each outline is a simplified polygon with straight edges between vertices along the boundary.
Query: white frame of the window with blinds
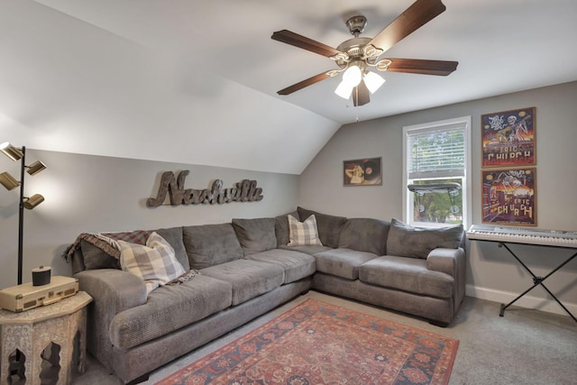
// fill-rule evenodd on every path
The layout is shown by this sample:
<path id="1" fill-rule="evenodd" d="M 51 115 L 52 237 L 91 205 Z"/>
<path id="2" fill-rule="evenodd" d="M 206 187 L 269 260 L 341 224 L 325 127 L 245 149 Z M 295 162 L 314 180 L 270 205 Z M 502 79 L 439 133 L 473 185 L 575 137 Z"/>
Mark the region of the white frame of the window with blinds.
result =
<path id="1" fill-rule="evenodd" d="M 415 124 L 403 127 L 403 221 L 409 225 L 418 225 L 422 227 L 445 227 L 448 224 L 432 224 L 427 222 L 413 221 L 413 192 L 409 191 L 408 186 L 408 133 L 415 133 L 416 131 L 439 131 L 443 129 L 463 128 L 465 132 L 465 170 L 463 183 L 463 227 L 469 228 L 472 222 L 472 160 L 471 160 L 471 115 L 462 116 L 453 119 L 446 119 L 438 122 L 431 122 L 426 124 Z M 446 174 L 446 178 L 451 178 L 450 173 Z"/>

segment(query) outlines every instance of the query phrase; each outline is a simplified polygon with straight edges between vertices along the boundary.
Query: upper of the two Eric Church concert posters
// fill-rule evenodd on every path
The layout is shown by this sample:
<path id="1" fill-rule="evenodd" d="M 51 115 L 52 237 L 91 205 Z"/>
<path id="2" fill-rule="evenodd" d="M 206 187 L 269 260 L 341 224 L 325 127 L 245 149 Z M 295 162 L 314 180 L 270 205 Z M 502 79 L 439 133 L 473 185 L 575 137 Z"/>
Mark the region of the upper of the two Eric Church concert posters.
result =
<path id="1" fill-rule="evenodd" d="M 536 164 L 536 107 L 481 115 L 482 167 Z"/>

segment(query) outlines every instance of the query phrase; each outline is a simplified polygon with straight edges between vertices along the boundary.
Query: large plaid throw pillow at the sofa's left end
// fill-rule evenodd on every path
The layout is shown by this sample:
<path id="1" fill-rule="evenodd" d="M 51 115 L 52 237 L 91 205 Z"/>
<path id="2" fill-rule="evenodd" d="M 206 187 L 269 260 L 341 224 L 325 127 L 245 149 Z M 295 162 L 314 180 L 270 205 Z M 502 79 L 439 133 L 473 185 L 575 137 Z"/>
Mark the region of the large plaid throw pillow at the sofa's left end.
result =
<path id="1" fill-rule="evenodd" d="M 172 246 L 157 233 L 152 233 L 145 245 L 116 242 L 120 245 L 120 266 L 144 280 L 147 294 L 185 273 Z"/>

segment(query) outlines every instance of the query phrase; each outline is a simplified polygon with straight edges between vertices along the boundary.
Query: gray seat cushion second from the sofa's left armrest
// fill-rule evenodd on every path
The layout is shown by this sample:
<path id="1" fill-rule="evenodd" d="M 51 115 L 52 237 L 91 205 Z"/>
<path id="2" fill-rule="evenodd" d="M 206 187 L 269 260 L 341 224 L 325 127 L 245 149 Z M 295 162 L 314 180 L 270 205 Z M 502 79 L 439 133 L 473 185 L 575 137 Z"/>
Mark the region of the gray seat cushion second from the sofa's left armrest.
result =
<path id="1" fill-rule="evenodd" d="M 281 266 L 245 259 L 211 266 L 200 273 L 230 283 L 234 306 L 278 288 L 285 280 L 285 270 Z"/>

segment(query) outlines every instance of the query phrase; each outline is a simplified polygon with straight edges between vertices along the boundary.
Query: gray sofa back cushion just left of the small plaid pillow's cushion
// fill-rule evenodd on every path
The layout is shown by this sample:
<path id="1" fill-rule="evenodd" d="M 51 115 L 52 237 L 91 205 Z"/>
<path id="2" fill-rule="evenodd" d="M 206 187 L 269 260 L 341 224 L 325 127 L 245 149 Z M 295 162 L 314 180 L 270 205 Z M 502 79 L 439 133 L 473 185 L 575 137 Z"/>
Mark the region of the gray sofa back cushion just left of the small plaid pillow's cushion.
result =
<path id="1" fill-rule="evenodd" d="M 232 222 L 245 256 L 277 248 L 274 218 L 234 218 Z"/>

